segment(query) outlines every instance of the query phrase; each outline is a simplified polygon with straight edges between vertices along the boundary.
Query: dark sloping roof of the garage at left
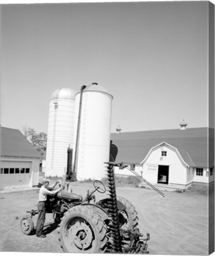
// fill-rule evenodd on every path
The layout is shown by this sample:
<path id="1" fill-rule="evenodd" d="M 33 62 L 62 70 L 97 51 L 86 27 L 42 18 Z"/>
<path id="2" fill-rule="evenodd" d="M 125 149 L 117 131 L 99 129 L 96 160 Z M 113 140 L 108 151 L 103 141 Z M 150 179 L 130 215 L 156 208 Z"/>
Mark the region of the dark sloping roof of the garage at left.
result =
<path id="1" fill-rule="evenodd" d="M 1 156 L 41 158 L 42 156 L 17 129 L 1 127 Z"/>

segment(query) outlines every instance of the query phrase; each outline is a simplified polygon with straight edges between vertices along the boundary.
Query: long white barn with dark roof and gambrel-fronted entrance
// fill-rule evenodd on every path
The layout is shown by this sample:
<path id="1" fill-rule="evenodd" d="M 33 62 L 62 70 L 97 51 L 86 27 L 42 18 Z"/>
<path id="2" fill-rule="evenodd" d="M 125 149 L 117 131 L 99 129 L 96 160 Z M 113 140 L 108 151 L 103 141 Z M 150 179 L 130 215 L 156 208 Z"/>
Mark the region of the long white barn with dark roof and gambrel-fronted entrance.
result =
<path id="1" fill-rule="evenodd" d="M 135 171 L 157 187 L 184 189 L 214 181 L 214 129 L 118 132 L 111 135 L 110 160 L 135 163 Z M 131 175 L 115 168 L 115 174 Z"/>

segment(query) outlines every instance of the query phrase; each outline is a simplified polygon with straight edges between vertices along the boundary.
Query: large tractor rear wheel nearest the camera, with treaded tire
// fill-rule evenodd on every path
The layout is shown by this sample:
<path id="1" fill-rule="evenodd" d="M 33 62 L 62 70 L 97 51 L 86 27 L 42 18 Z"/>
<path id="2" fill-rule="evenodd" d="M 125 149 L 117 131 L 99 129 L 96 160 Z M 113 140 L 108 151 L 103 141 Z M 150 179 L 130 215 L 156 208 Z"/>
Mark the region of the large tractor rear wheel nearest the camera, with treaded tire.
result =
<path id="1" fill-rule="evenodd" d="M 86 206 L 75 206 L 65 213 L 59 234 L 64 252 L 99 253 L 106 249 L 105 223 Z"/>

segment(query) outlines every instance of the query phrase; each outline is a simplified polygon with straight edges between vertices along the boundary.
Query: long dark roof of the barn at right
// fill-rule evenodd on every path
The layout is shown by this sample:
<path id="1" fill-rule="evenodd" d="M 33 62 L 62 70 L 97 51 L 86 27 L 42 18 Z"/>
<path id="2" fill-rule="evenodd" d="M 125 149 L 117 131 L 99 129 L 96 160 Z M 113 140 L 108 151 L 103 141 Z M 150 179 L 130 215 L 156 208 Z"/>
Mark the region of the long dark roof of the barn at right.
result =
<path id="1" fill-rule="evenodd" d="M 111 140 L 118 149 L 117 162 L 140 163 L 152 147 L 167 142 L 178 149 L 189 166 L 214 166 L 214 129 L 211 128 L 112 133 Z"/>

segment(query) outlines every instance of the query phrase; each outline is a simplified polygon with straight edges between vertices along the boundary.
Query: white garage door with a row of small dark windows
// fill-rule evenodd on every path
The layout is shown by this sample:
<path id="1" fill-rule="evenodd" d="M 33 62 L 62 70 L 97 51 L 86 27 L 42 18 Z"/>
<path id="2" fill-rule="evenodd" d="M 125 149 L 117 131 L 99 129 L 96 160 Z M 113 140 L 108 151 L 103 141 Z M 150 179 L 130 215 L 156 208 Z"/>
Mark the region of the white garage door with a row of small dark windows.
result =
<path id="1" fill-rule="evenodd" d="M 1 189 L 30 185 L 31 162 L 1 161 Z"/>

